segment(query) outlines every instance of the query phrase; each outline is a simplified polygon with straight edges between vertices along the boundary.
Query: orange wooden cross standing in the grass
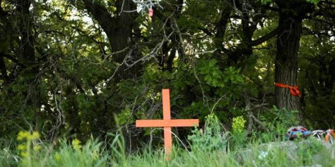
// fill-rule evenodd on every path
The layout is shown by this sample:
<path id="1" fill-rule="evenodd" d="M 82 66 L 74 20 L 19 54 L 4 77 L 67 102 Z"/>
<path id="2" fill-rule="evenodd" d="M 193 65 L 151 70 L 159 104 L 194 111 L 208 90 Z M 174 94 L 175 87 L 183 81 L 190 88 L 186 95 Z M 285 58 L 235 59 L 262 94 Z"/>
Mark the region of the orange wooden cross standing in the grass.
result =
<path id="1" fill-rule="evenodd" d="M 171 119 L 170 90 L 163 89 L 163 119 L 136 120 L 136 127 L 164 127 L 164 147 L 166 154 L 172 150 L 171 127 L 199 126 L 199 119 Z"/>

